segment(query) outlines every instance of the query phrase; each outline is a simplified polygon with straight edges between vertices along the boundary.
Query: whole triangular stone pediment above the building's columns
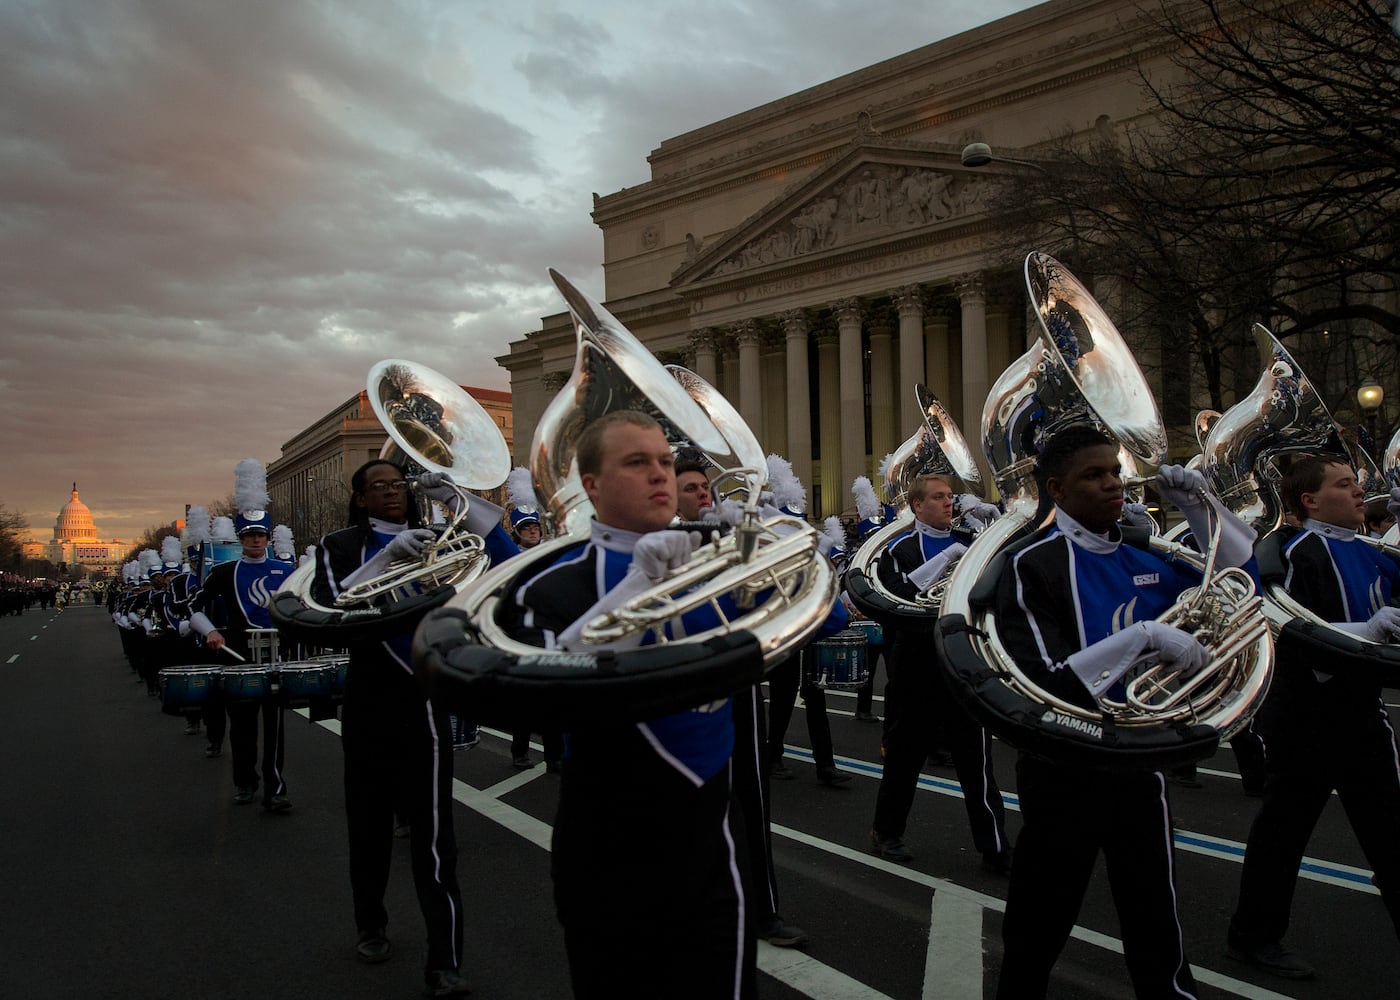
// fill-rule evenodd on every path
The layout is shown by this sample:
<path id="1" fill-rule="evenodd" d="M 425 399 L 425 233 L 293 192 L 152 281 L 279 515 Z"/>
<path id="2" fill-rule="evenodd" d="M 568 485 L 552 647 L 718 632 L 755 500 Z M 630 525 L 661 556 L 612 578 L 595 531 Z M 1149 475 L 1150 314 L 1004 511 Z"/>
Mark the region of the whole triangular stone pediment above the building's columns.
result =
<path id="1" fill-rule="evenodd" d="M 860 143 L 794 185 L 672 276 L 678 291 L 956 224 L 980 214 L 997 181 L 931 143 Z"/>

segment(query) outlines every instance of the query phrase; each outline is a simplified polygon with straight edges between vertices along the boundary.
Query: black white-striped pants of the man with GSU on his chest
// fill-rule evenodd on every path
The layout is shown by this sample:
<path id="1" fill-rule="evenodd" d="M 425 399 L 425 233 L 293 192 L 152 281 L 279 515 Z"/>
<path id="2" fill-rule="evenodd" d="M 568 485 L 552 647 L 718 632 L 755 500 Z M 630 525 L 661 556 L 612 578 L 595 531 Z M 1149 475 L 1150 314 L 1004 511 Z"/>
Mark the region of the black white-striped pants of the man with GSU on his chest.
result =
<path id="1" fill-rule="evenodd" d="M 1000 1000 L 1043 997 L 1079 915 L 1099 852 L 1140 1000 L 1196 996 L 1176 908 L 1176 864 L 1161 773 L 1106 773 L 1022 755 Z"/>

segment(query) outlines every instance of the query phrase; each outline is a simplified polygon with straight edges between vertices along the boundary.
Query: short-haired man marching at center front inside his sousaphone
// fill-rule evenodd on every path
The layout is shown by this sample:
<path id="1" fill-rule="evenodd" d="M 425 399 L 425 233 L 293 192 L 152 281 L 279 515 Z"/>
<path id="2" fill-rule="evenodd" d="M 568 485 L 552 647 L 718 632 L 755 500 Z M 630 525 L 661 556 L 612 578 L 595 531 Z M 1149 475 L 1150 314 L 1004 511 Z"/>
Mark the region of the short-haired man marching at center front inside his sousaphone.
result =
<path id="1" fill-rule="evenodd" d="M 517 592 L 522 633 L 571 648 L 585 622 L 690 559 L 689 532 L 668 529 L 673 461 L 648 415 L 612 412 L 584 429 L 577 465 L 595 511 L 591 538 Z M 701 608 L 665 627 L 690 633 L 713 620 Z M 553 875 L 575 997 L 753 996 L 755 930 L 729 831 L 729 699 L 580 727 L 566 748 Z"/>

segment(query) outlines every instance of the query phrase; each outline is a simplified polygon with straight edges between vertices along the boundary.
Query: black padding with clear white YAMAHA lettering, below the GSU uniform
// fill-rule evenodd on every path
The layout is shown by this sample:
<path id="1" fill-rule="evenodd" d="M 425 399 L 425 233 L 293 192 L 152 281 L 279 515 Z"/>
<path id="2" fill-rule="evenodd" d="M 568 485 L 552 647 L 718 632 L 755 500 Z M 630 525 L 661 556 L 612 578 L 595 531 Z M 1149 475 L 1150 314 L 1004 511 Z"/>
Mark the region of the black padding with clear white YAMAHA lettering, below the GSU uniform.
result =
<path id="1" fill-rule="evenodd" d="M 1116 725 L 1106 717 L 1067 716 L 1026 697 L 977 655 L 962 615 L 939 619 L 935 639 L 953 697 L 1025 754 L 1075 768 L 1141 772 L 1194 763 L 1219 746 L 1219 732 L 1210 725 Z"/>

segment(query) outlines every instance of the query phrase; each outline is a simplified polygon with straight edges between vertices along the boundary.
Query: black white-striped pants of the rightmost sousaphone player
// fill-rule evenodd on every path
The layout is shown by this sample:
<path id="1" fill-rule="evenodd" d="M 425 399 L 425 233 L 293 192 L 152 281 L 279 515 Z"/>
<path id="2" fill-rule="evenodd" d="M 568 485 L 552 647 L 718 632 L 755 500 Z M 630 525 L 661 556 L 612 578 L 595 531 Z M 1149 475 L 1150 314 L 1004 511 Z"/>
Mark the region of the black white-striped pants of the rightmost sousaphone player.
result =
<path id="1" fill-rule="evenodd" d="M 1298 866 L 1333 790 L 1400 933 L 1400 768 L 1379 690 L 1320 682 L 1310 665 L 1281 654 L 1254 728 L 1267 783 L 1245 847 L 1231 941 L 1256 948 L 1282 940 Z"/>

